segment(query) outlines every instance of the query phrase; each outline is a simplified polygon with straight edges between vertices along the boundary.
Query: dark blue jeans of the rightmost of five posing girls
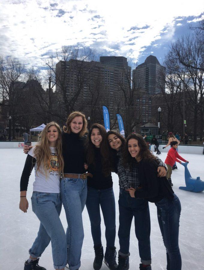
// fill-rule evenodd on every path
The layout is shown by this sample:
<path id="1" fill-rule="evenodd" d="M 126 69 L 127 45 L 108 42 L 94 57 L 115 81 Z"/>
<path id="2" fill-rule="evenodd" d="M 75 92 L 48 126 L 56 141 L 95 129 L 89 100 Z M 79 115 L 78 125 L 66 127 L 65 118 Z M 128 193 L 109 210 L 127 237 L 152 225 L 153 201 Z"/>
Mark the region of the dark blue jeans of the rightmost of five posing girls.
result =
<path id="1" fill-rule="evenodd" d="M 159 227 L 167 250 L 167 270 L 181 269 L 181 254 L 179 250 L 179 218 L 181 203 L 174 193 L 173 201 L 162 199 L 155 202 Z"/>

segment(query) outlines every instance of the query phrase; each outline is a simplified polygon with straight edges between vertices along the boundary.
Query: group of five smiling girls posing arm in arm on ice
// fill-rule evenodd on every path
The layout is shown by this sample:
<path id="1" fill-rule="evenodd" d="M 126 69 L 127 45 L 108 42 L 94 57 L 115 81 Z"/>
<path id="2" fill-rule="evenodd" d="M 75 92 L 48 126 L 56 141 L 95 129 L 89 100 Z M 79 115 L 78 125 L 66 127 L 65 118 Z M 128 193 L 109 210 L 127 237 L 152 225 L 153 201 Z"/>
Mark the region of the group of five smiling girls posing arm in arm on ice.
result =
<path id="1" fill-rule="evenodd" d="M 151 269 L 148 201 L 155 202 L 158 211 L 161 212 L 159 225 L 167 250 L 167 269 L 181 269 L 178 247 L 180 212 L 179 209 L 173 212 L 173 207 L 171 207 L 171 213 L 169 211 L 172 204 L 175 205 L 176 202 L 177 205 L 179 204 L 179 199 L 174 196 L 168 182 L 166 183 L 164 163 L 150 154 L 149 149 L 144 147 L 146 143 L 140 135 L 134 135 L 136 136 L 134 138 L 128 137 L 125 141 L 120 134 L 114 131 L 106 133 L 102 125 L 94 124 L 86 139 L 84 137 L 86 129 L 87 121 L 84 114 L 71 113 L 67 119 L 64 133 L 61 134 L 60 128 L 55 122 L 47 124 L 40 135 L 37 146 L 28 152 L 21 177 L 19 207 L 24 212 L 28 208 L 26 190 L 29 175 L 34 167 L 35 182 L 31 202 L 32 209 L 40 220 L 40 228 L 38 236 L 29 250 L 30 257 L 25 262 L 24 269 L 45 270 L 38 265 L 38 260 L 50 240 L 55 269 L 64 269 L 67 263 L 71 270 L 80 267 L 84 238 L 82 211 L 85 204 L 91 223 L 95 251 L 93 268 L 95 270 L 102 267 L 103 259 L 110 269 L 129 269 L 130 227 L 133 216 L 141 258 L 140 269 Z M 132 140 L 135 140 L 134 143 L 136 142 L 134 144 L 136 151 L 129 151 L 132 147 L 129 142 L 132 143 Z M 28 151 L 28 147 L 25 146 L 24 150 Z M 137 159 L 138 157 L 140 159 Z M 140 166 L 140 164 L 142 165 Z M 146 171 L 151 171 L 151 177 L 142 173 L 142 170 L 145 171 L 144 167 Z M 118 173 L 120 186 L 118 265 L 115 247 L 115 199 L 111 171 Z M 57 188 L 50 188 L 52 185 Z M 165 209 L 162 200 L 166 202 Z M 177 201 L 174 202 L 175 200 Z M 68 224 L 66 242 L 64 229 L 59 219 L 61 202 L 64 205 Z M 162 204 L 159 206 L 160 202 Z M 101 241 L 100 207 L 105 223 L 105 255 Z M 49 214 L 49 208 L 52 214 L 56 213 L 55 217 Z M 174 207 L 174 209 L 176 208 Z M 162 219 L 167 218 L 168 215 L 176 215 L 177 220 L 174 218 L 173 227 L 167 222 L 166 227 L 163 228 Z M 53 229 L 55 227 L 59 228 L 57 233 Z M 173 240 L 171 240 L 171 233 L 174 235 Z M 167 234 L 170 235 L 170 239 Z"/>

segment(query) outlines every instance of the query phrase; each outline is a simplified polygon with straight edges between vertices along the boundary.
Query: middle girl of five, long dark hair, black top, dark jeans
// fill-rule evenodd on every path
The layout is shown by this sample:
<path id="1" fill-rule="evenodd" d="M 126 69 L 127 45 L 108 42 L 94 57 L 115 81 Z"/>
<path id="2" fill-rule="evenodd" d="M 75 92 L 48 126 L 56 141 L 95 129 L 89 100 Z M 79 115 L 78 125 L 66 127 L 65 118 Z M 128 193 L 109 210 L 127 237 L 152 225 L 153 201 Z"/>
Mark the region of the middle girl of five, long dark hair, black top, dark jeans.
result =
<path id="1" fill-rule="evenodd" d="M 93 124 L 88 135 L 87 143 L 88 173 L 93 178 L 87 178 L 86 207 L 91 222 L 91 234 L 94 243 L 95 259 L 93 268 L 99 270 L 103 257 L 110 269 L 116 269 L 115 247 L 115 197 L 111 177 L 111 157 L 108 148 L 106 130 L 102 125 Z M 105 223 L 106 250 L 105 256 L 101 242 L 101 215 Z"/>

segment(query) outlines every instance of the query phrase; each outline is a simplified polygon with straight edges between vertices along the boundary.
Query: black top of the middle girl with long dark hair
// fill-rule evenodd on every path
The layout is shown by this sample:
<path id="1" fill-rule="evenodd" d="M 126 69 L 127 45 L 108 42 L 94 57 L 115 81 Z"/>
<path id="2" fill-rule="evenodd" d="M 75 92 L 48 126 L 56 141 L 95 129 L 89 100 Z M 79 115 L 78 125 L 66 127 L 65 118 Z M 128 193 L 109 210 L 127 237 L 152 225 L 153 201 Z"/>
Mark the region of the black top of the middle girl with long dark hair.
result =
<path id="1" fill-rule="evenodd" d="M 101 154 L 100 148 L 94 148 L 95 154 L 95 166 L 90 164 L 88 167 L 88 173 L 92 173 L 93 178 L 87 178 L 88 187 L 96 189 L 107 189 L 113 186 L 111 173 L 108 176 L 104 176 L 102 173 Z"/>

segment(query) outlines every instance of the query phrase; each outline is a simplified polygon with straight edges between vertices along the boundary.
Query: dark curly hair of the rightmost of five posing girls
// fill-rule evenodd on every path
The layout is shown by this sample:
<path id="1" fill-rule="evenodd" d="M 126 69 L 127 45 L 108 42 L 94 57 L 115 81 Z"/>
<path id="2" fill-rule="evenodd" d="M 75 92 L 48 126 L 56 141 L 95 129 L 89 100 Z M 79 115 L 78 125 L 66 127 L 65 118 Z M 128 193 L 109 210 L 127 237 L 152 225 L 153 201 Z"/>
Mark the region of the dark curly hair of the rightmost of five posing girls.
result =
<path id="1" fill-rule="evenodd" d="M 156 160 L 156 157 L 152 154 L 152 152 L 149 150 L 149 146 L 143 139 L 143 137 L 140 134 L 131 133 L 126 140 L 125 147 L 123 148 L 123 165 L 125 168 L 127 168 L 128 165 L 130 165 L 130 168 L 133 167 L 133 164 L 136 162 L 135 158 L 132 158 L 130 155 L 130 152 L 128 150 L 128 142 L 130 139 L 135 139 L 138 141 L 138 146 L 140 147 L 140 157 L 144 160 L 153 159 Z"/>

